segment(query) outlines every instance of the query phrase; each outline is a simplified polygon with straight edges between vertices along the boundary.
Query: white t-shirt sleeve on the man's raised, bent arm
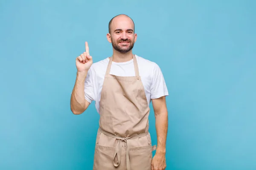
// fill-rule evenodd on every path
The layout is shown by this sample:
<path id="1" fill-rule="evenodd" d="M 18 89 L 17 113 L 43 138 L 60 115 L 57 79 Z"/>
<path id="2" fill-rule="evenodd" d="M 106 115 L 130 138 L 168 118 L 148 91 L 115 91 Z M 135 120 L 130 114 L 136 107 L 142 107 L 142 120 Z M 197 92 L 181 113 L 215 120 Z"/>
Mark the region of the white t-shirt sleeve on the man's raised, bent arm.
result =
<path id="1" fill-rule="evenodd" d="M 93 75 L 91 69 L 88 70 L 87 76 L 84 82 L 84 98 L 88 102 L 95 101 L 94 86 L 93 86 Z"/>

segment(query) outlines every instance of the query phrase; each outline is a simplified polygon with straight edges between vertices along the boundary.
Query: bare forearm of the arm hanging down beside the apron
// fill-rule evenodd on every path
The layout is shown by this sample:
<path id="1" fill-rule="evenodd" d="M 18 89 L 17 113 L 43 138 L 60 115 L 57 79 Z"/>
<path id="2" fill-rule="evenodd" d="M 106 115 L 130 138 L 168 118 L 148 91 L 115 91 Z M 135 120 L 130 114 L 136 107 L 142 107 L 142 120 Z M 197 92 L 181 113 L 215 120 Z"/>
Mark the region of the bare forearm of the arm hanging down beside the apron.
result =
<path id="1" fill-rule="evenodd" d="M 166 153 L 166 137 L 168 130 L 168 111 L 163 109 L 155 113 L 157 131 L 157 153 Z"/>

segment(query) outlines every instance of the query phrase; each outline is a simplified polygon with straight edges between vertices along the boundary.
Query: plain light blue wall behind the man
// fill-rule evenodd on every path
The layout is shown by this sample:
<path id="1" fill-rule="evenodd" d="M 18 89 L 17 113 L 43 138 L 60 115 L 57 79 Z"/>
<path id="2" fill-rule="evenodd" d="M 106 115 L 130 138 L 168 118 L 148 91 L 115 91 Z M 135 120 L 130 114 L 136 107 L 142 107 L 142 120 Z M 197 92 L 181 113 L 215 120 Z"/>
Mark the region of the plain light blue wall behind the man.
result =
<path id="1" fill-rule="evenodd" d="M 0 169 L 90 170 L 99 115 L 70 111 L 75 58 L 111 56 L 109 20 L 169 90 L 166 170 L 256 169 L 256 1 L 1 0 Z M 152 109 L 152 106 L 151 106 Z M 150 133 L 156 144 L 154 112 Z M 154 152 L 155 153 L 155 152 Z"/>

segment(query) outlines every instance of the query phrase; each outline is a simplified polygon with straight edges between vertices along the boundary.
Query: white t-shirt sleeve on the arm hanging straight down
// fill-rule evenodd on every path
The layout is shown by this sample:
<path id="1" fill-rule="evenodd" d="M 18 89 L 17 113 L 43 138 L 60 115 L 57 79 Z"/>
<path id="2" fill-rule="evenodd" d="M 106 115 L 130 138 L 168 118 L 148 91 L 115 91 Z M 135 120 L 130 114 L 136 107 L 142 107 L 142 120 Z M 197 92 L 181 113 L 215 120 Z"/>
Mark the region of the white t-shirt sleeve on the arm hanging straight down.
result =
<path id="1" fill-rule="evenodd" d="M 156 63 L 154 63 L 150 92 L 151 99 L 169 95 L 163 73 Z"/>

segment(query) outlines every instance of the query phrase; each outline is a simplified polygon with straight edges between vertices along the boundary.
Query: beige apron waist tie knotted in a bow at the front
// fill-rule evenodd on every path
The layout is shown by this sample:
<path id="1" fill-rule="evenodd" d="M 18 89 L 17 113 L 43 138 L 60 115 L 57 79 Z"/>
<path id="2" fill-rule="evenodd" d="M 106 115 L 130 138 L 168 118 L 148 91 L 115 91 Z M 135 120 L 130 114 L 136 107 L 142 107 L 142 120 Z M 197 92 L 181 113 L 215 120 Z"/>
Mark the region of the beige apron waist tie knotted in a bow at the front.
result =
<path id="1" fill-rule="evenodd" d="M 106 132 L 105 130 L 102 130 L 100 127 L 99 127 L 99 130 L 107 135 L 107 136 L 110 136 L 112 138 L 115 138 L 115 139 L 119 139 L 118 143 L 116 144 L 116 148 L 115 148 L 115 152 L 114 152 L 114 156 L 113 156 L 113 164 L 115 167 L 118 167 L 120 162 L 121 162 L 121 152 L 122 152 L 122 147 L 120 145 L 120 140 L 121 141 L 124 141 L 126 142 L 127 144 L 127 148 L 126 148 L 126 164 L 127 164 L 127 170 L 131 170 L 131 165 L 130 165 L 130 157 L 131 157 L 131 153 L 130 153 L 130 142 L 128 141 L 128 139 L 136 139 L 136 138 L 140 138 L 140 137 L 143 137 L 143 136 L 147 136 L 148 135 L 148 132 L 146 133 L 141 133 L 139 135 L 136 135 L 136 136 L 130 136 L 130 137 L 127 137 L 127 138 L 123 138 L 121 136 L 116 136 L 116 135 L 113 135 L 112 133 L 109 133 L 109 132 Z M 117 155 L 117 164 L 116 162 L 114 162 L 114 159 Z"/>

